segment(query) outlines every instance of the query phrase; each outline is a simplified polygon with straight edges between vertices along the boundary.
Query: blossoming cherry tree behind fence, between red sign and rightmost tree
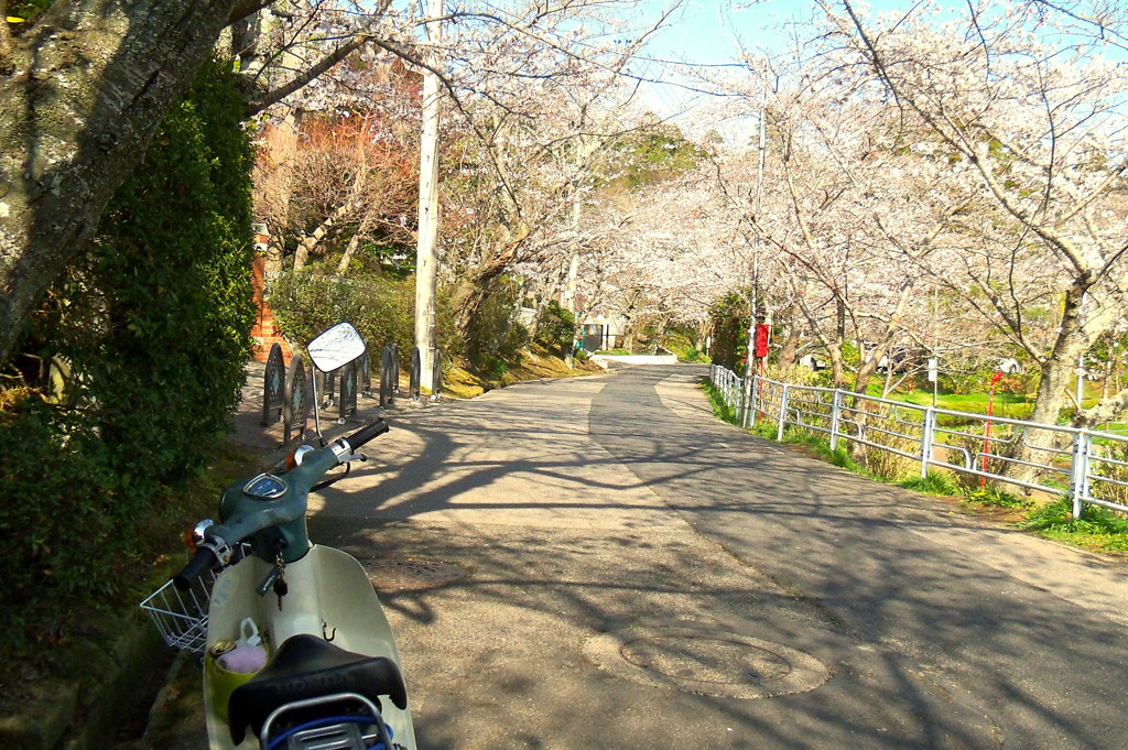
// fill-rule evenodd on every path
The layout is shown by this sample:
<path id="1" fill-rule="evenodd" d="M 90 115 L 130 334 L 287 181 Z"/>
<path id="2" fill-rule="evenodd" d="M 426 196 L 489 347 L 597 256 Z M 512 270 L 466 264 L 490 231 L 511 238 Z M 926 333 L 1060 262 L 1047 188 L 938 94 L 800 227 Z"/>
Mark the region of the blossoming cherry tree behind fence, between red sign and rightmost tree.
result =
<path id="1" fill-rule="evenodd" d="M 775 268 L 775 299 L 767 307 L 802 316 L 841 387 L 844 347 L 854 343 L 860 359 L 852 385 L 864 392 L 895 346 L 915 346 L 910 321 L 922 319 L 920 267 L 943 246 L 963 201 L 936 189 L 946 160 L 915 151 L 913 129 L 880 91 L 828 67 L 821 51 L 800 47 L 749 63 L 759 74 L 730 87 L 743 88 L 744 106 L 766 120 L 767 187 L 759 210 L 743 197 L 752 194 L 758 170 L 741 170 L 733 159 L 719 176 L 742 212 L 747 244 L 759 245 L 765 270 Z M 793 321 L 791 333 L 799 327 Z M 787 338 L 793 350 L 796 337 Z"/>

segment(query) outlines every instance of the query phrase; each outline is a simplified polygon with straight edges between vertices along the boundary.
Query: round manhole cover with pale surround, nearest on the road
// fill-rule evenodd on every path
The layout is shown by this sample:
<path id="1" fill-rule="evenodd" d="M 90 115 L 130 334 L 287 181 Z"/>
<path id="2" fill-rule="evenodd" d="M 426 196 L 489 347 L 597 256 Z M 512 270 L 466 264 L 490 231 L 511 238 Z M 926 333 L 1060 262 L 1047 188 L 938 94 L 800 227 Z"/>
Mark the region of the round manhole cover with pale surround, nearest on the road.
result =
<path id="1" fill-rule="evenodd" d="M 801 651 L 704 628 L 628 628 L 589 638 L 584 655 L 634 682 L 729 698 L 768 698 L 819 687 L 830 672 Z"/>

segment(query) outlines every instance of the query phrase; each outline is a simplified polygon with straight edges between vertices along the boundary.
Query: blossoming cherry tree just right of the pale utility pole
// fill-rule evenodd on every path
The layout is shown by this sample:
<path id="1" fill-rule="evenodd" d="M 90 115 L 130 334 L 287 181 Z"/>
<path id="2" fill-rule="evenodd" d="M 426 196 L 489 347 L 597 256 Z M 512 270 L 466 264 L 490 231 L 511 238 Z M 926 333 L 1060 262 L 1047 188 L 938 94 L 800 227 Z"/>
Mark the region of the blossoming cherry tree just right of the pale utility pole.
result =
<path id="1" fill-rule="evenodd" d="M 494 280 L 518 267 L 567 267 L 591 242 L 583 221 L 591 194 L 622 169 L 618 145 L 652 123 L 628 114 L 631 91 L 616 74 L 574 89 L 548 79 L 523 96 L 537 108 L 485 100 L 470 113 L 444 179 L 447 275 L 457 279 L 464 329 Z"/>

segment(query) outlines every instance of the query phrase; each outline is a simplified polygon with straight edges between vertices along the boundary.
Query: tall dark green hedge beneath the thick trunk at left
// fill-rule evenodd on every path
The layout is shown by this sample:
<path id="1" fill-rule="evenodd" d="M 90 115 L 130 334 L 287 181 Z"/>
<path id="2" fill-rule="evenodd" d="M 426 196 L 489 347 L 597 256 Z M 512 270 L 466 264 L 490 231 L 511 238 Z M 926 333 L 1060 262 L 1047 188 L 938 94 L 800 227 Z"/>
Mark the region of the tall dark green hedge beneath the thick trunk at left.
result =
<path id="1" fill-rule="evenodd" d="M 95 240 L 50 290 L 17 362 L 68 363 L 64 398 L 0 394 L 0 633 L 97 603 L 144 544 L 138 524 L 228 429 L 250 351 L 252 148 L 228 67 L 173 107 Z M 26 371 L 25 371 L 26 372 Z M 135 567 L 135 565 L 134 565 Z"/>

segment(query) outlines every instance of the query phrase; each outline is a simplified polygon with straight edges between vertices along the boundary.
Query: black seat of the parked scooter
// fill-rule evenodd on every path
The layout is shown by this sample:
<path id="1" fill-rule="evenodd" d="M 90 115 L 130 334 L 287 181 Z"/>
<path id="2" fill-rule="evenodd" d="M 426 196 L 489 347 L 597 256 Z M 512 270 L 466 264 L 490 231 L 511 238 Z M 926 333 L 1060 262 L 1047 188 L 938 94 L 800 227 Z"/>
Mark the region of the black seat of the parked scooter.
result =
<path id="1" fill-rule="evenodd" d="M 248 725 L 257 735 L 271 713 L 288 703 L 336 692 L 355 692 L 372 702 L 388 696 L 398 708 L 407 707 L 407 689 L 394 661 L 300 634 L 287 638 L 266 667 L 231 692 L 227 704 L 231 740 L 243 742 Z"/>

